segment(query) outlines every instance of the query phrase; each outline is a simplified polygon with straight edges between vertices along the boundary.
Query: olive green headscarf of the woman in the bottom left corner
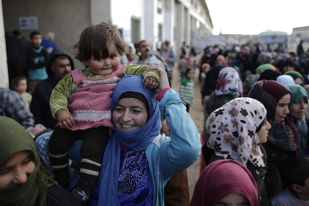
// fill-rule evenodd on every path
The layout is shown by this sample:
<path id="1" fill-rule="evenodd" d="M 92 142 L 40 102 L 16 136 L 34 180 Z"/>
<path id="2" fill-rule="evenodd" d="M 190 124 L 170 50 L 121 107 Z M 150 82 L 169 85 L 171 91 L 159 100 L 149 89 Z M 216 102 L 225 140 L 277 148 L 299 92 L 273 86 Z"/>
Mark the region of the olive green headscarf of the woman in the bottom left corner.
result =
<path id="1" fill-rule="evenodd" d="M 46 205 L 47 189 L 57 182 L 47 170 L 36 151 L 30 133 L 15 120 L 0 116 L 0 166 L 13 154 L 28 150 L 32 152 L 35 169 L 26 183 L 0 188 L 0 205 Z"/>

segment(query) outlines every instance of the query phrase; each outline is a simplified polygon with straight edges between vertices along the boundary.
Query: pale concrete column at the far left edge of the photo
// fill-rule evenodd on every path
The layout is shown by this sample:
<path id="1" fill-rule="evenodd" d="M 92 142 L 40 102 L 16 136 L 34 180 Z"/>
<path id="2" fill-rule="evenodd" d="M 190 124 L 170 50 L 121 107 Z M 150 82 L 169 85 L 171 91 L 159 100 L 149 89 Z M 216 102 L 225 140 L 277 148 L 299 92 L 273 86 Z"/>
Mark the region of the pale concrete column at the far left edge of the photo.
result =
<path id="1" fill-rule="evenodd" d="M 0 0 L 0 86 L 9 88 L 9 74 L 7 71 L 2 0 Z"/>

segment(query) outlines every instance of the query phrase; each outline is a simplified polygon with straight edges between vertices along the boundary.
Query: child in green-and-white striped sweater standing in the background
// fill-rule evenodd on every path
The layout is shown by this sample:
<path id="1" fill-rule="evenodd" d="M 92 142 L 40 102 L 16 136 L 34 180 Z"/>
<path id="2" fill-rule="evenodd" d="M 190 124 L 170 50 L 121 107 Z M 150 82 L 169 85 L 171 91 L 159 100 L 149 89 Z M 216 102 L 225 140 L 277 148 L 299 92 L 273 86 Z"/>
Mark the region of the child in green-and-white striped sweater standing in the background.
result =
<path id="1" fill-rule="evenodd" d="M 194 96 L 194 70 L 191 68 L 186 69 L 185 78 L 182 80 L 179 94 L 180 99 L 186 103 L 186 111 L 189 112 L 190 103 Z"/>

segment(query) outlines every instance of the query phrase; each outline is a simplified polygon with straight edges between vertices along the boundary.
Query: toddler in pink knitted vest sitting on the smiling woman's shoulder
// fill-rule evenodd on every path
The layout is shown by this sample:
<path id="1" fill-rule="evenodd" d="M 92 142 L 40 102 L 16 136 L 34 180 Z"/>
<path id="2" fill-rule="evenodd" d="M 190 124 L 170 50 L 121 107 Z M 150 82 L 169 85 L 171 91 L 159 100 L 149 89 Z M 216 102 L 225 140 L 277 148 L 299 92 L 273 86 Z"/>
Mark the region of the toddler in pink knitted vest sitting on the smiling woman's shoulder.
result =
<path id="1" fill-rule="evenodd" d="M 58 124 L 49 140 L 49 157 L 62 187 L 67 188 L 70 182 L 68 150 L 75 140 L 83 139 L 79 181 L 72 191 L 82 203 L 90 197 L 113 129 L 110 101 L 116 83 L 125 75 L 142 76 L 144 86 L 150 90 L 159 83 L 158 72 L 147 72 L 148 66 L 119 66 L 126 50 L 115 27 L 107 23 L 88 26 L 74 51 L 75 58 L 89 68 L 73 70 L 57 84 L 50 98 L 52 115 Z M 124 129 L 131 126 L 123 124 Z"/>

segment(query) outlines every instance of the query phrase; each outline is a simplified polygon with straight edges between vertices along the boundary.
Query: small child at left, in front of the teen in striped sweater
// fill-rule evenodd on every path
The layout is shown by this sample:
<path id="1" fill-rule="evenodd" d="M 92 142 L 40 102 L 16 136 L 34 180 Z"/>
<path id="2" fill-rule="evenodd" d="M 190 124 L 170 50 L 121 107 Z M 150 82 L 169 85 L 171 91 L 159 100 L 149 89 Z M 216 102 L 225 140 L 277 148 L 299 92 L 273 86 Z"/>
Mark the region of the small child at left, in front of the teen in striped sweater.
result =
<path id="1" fill-rule="evenodd" d="M 29 109 L 32 96 L 26 92 L 27 90 L 27 78 L 19 76 L 12 79 L 12 90 L 17 91 L 23 101 L 26 103 L 27 108 Z"/>

